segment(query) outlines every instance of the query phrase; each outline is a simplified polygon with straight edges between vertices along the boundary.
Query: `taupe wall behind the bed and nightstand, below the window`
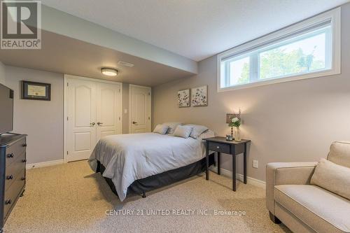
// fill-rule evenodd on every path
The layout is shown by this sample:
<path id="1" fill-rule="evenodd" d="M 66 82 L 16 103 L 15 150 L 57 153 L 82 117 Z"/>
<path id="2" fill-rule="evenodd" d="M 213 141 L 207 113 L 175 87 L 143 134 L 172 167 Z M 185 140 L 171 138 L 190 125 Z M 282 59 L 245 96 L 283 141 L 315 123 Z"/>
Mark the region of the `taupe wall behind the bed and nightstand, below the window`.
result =
<path id="1" fill-rule="evenodd" d="M 243 137 L 251 139 L 248 176 L 265 181 L 268 162 L 315 161 L 330 143 L 350 141 L 350 4 L 342 7 L 342 74 L 228 92 L 216 91 L 216 56 L 200 62 L 199 74 L 153 88 L 153 126 L 166 121 L 207 125 L 225 136 L 225 114 L 243 108 Z M 208 85 L 209 106 L 178 108 L 177 90 Z M 259 161 L 253 169 L 252 160 Z M 223 168 L 232 169 L 223 157 Z M 241 173 L 241 156 L 238 172 Z"/>

